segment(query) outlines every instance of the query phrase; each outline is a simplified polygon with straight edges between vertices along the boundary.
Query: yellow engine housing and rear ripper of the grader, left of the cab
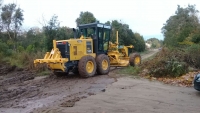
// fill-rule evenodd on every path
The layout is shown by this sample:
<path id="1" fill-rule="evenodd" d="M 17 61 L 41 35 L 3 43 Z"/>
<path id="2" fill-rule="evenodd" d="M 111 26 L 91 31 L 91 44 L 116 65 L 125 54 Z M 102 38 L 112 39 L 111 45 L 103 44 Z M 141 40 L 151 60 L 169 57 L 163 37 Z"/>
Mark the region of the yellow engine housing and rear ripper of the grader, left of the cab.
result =
<path id="1" fill-rule="evenodd" d="M 66 43 L 70 45 L 70 61 L 78 61 L 83 56 L 90 55 L 96 57 L 96 54 L 93 53 L 93 43 L 92 39 L 69 39 L 69 40 L 53 40 L 53 49 L 51 52 L 47 52 L 43 59 L 34 60 L 35 66 L 39 63 L 47 63 L 49 69 L 53 70 L 62 70 L 63 72 L 67 69 L 65 63 L 69 61 L 68 58 L 62 58 L 61 52 L 56 46 L 56 43 Z M 91 43 L 91 48 L 86 48 L 86 43 Z M 87 53 L 87 51 L 91 51 Z"/>

